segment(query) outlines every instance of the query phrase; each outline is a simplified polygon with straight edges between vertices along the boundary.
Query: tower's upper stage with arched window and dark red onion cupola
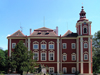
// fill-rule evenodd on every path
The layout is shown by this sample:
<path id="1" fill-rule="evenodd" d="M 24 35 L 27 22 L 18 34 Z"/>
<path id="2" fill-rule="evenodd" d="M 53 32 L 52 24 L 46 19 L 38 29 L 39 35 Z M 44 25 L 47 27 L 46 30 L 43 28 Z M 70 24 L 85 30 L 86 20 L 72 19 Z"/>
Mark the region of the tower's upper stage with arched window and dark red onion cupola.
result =
<path id="1" fill-rule="evenodd" d="M 83 9 L 79 13 L 80 18 L 76 23 L 76 31 L 78 35 L 91 35 L 91 21 L 86 19 L 86 12 Z"/>

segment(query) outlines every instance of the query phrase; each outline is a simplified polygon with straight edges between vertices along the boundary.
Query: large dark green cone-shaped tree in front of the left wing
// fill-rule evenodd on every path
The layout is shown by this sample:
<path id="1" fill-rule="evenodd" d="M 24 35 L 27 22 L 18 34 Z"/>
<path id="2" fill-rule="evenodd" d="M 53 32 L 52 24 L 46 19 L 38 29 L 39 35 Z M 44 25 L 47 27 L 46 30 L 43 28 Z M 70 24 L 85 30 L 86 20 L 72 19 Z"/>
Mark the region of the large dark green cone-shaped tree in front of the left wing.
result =
<path id="1" fill-rule="evenodd" d="M 24 46 L 23 41 L 19 41 L 19 43 L 15 46 L 14 51 L 12 51 L 11 57 L 9 58 L 9 67 L 20 74 L 23 71 L 33 73 L 35 71 L 36 61 L 32 59 L 33 52 L 27 50 L 27 47 Z"/>

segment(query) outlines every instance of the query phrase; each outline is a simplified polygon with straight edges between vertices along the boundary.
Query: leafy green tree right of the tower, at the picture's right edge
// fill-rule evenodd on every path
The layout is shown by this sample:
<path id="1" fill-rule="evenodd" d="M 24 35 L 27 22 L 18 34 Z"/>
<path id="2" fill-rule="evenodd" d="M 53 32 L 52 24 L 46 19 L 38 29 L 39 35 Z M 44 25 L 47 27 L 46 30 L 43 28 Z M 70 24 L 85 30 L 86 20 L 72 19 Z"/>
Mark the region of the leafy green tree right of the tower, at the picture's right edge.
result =
<path id="1" fill-rule="evenodd" d="M 100 70 L 100 31 L 98 31 L 93 35 L 92 51 L 93 51 L 93 72 L 97 73 Z"/>

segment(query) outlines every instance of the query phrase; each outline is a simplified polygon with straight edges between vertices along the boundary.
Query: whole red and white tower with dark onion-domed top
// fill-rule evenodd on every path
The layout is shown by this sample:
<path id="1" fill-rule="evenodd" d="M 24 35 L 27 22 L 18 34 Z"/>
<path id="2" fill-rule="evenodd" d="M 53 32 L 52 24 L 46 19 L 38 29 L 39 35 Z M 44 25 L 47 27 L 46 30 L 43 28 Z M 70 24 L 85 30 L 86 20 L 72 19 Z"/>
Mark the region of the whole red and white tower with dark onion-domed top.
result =
<path id="1" fill-rule="evenodd" d="M 91 21 L 86 18 L 83 9 L 79 13 L 80 18 L 76 23 L 77 38 L 77 71 L 80 74 L 92 75 L 92 35 Z"/>

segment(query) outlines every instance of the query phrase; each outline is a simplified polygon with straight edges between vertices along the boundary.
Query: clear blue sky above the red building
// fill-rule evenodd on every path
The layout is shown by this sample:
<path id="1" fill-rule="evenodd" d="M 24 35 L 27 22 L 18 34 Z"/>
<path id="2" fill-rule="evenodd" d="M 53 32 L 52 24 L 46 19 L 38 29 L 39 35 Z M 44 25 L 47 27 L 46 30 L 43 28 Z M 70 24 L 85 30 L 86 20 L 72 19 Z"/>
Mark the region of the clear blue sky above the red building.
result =
<path id="1" fill-rule="evenodd" d="M 58 26 L 59 35 L 67 30 L 76 32 L 82 5 L 92 21 L 93 35 L 100 30 L 100 0 L 0 0 L 0 47 L 8 49 L 7 35 L 20 30 L 20 26 L 25 35 L 29 35 L 30 28 L 43 27 L 44 16 L 45 27 Z"/>

